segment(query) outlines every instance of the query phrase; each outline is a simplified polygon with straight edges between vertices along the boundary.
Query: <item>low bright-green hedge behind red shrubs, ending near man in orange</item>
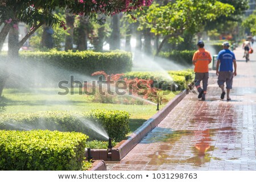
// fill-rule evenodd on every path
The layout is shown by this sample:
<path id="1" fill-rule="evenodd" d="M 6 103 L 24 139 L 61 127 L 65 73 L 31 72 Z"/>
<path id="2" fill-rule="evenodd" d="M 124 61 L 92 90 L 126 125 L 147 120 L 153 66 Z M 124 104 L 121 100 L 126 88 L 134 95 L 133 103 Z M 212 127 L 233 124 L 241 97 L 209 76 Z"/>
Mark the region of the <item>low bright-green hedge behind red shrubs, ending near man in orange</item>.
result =
<path id="1" fill-rule="evenodd" d="M 170 88 L 175 88 L 177 85 L 176 91 L 184 90 L 185 84 L 187 81 L 191 81 L 193 79 L 193 71 L 192 69 L 187 69 L 184 71 L 168 71 L 167 73 L 163 72 L 128 72 L 123 75 L 123 78 L 134 79 L 141 78 L 144 80 L 150 80 L 151 77 L 154 77 L 154 80 L 158 81 L 166 81 L 162 85 L 162 89 L 166 90 Z M 155 85 L 156 88 L 161 88 L 160 85 Z"/>

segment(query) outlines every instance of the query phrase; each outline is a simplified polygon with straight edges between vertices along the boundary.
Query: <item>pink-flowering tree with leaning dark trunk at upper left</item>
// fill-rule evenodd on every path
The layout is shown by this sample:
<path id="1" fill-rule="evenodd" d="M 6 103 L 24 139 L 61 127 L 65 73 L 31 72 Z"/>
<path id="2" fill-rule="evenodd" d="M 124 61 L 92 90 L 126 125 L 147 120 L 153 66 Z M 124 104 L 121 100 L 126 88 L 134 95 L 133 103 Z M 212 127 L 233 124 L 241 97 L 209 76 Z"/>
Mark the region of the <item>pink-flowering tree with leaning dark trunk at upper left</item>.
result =
<path id="1" fill-rule="evenodd" d="M 54 24 L 60 24 L 65 28 L 65 23 L 52 15 L 52 11 L 56 7 L 69 9 L 72 14 L 83 13 L 85 17 L 93 18 L 98 13 L 106 15 L 118 14 L 120 12 L 131 13 L 134 9 L 141 8 L 143 6 L 151 5 L 152 0 L 62 0 L 62 1 L 38 1 L 38 0 L 2 0 L 0 2 L 0 26 L 3 28 L 0 32 L 0 48 L 2 49 L 3 43 L 6 39 L 9 31 L 14 31 L 18 28 L 18 22 L 24 22 L 31 27 L 27 35 L 24 36 L 20 42 L 13 44 L 8 51 L 10 60 L 18 60 L 18 51 L 26 42 L 26 40 L 34 34 L 36 30 L 43 24 L 46 26 L 52 26 Z M 1 52 L 0 49 L 0 52 Z M 11 64 L 8 63 L 8 67 Z M 3 72 L 3 70 L 1 70 Z M 7 73 L 1 73 L 0 84 L 0 97 L 2 95 L 3 86 L 7 80 Z"/>

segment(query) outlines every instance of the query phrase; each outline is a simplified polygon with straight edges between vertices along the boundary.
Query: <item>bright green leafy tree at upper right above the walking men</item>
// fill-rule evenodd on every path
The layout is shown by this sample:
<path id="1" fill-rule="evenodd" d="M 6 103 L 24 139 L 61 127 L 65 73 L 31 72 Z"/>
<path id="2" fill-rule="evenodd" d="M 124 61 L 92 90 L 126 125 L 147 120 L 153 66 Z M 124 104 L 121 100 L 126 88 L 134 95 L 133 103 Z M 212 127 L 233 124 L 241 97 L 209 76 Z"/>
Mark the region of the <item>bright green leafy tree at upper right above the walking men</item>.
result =
<path id="1" fill-rule="evenodd" d="M 147 14 L 139 18 L 141 30 L 150 28 L 156 36 L 162 36 L 156 56 L 166 42 L 182 42 L 184 31 L 193 35 L 201 31 L 206 21 L 221 15 L 229 15 L 234 7 L 215 0 L 177 0 L 166 6 L 153 4 Z"/>

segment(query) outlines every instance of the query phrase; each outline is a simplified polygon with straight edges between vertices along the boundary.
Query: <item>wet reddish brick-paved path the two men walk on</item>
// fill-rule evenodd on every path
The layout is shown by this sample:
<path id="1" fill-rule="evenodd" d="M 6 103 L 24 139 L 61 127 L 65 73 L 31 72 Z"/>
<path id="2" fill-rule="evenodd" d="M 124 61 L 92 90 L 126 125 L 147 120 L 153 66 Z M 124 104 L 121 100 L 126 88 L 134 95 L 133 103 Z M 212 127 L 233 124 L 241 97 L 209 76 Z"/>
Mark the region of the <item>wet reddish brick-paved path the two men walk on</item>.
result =
<path id="1" fill-rule="evenodd" d="M 248 63 L 235 53 L 232 101 L 220 100 L 211 71 L 207 101 L 190 93 L 108 170 L 256 170 L 256 53 Z"/>

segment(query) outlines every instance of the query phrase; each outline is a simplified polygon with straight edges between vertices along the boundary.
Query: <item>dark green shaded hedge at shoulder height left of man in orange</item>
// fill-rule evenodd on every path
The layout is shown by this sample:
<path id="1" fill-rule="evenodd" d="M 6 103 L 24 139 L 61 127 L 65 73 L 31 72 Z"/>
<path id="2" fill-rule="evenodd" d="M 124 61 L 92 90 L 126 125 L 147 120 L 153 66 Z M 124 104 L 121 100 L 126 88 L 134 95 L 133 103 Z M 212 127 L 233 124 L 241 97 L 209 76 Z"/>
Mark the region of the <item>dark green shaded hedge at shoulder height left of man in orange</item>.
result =
<path id="1" fill-rule="evenodd" d="M 193 51 L 187 51 L 187 50 L 176 51 L 175 50 L 172 52 L 160 52 L 159 57 L 170 59 L 180 64 L 187 63 L 189 65 L 192 65 L 192 59 L 195 52 L 196 50 L 193 50 Z"/>

